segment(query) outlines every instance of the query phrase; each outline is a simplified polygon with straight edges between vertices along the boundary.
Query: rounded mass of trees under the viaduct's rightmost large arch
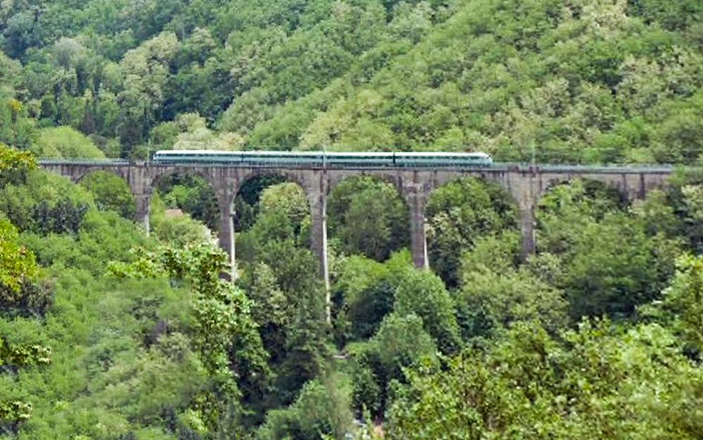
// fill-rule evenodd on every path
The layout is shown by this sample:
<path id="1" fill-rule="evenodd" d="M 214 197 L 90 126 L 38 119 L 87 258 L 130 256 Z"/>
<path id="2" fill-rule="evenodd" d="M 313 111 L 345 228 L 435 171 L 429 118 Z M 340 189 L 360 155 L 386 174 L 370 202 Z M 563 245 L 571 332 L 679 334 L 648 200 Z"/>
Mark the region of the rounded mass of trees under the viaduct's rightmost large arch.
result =
<path id="1" fill-rule="evenodd" d="M 676 240 L 647 227 L 637 211 L 619 188 L 589 179 L 553 185 L 539 199 L 529 265 L 564 293 L 574 321 L 633 316 L 669 284 Z"/>

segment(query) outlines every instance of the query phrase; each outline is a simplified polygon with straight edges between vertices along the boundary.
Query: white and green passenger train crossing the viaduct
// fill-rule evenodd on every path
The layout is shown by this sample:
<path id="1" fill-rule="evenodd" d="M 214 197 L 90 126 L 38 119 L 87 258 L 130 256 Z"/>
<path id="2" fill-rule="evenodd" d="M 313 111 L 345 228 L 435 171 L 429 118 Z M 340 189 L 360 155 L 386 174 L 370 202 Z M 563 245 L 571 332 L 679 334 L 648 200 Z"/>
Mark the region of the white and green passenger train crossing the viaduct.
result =
<path id="1" fill-rule="evenodd" d="M 226 164 L 234 166 L 300 166 L 311 168 L 432 168 L 486 167 L 493 159 L 484 152 L 324 152 L 160 150 L 153 164 Z"/>

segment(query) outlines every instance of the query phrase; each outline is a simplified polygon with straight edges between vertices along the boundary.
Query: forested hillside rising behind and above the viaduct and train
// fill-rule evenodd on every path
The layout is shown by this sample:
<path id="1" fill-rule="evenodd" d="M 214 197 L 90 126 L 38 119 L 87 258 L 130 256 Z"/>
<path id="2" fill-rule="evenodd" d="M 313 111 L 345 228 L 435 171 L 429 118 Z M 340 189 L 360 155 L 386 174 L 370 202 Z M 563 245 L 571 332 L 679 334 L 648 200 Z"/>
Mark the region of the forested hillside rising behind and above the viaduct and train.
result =
<path id="1" fill-rule="evenodd" d="M 690 163 L 702 19 L 697 0 L 6 1 L 0 140 Z"/>

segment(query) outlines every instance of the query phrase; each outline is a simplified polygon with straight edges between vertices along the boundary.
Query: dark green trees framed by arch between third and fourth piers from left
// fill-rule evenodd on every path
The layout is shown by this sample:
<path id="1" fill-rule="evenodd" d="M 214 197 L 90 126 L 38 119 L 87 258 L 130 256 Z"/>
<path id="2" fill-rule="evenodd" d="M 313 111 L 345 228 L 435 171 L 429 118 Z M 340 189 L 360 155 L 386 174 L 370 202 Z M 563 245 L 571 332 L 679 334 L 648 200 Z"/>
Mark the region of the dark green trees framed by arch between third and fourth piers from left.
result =
<path id="1" fill-rule="evenodd" d="M 327 199 L 330 247 L 377 261 L 410 245 L 410 209 L 392 178 L 356 175 L 337 182 Z"/>

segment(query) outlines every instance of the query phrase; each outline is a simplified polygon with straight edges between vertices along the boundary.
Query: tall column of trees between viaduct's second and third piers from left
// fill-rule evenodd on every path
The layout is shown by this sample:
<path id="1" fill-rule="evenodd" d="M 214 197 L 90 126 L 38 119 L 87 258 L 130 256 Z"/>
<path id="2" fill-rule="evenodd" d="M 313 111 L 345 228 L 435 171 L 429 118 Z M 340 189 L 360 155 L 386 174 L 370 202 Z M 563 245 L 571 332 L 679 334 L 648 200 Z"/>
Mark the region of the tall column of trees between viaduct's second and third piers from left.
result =
<path id="1" fill-rule="evenodd" d="M 236 248 L 240 285 L 254 300 L 252 314 L 275 374 L 271 392 L 254 399 L 259 413 L 252 420 L 262 422 L 267 408 L 291 404 L 323 370 L 325 292 L 309 250 L 302 189 L 271 176 L 250 181 L 238 199 L 251 215 L 258 211 L 254 224 L 238 234 Z"/>

